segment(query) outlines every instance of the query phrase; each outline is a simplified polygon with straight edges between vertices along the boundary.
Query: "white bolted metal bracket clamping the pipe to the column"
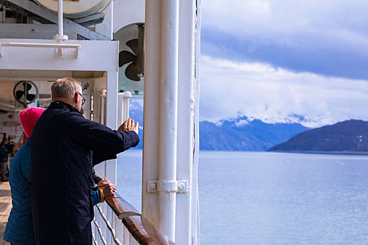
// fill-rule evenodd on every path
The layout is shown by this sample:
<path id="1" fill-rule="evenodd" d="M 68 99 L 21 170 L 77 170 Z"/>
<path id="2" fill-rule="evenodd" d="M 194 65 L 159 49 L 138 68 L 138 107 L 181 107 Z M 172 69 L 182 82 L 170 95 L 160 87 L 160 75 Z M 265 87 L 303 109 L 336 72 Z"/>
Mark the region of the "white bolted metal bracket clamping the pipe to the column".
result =
<path id="1" fill-rule="evenodd" d="M 188 181 L 148 181 L 147 193 L 186 193 Z"/>

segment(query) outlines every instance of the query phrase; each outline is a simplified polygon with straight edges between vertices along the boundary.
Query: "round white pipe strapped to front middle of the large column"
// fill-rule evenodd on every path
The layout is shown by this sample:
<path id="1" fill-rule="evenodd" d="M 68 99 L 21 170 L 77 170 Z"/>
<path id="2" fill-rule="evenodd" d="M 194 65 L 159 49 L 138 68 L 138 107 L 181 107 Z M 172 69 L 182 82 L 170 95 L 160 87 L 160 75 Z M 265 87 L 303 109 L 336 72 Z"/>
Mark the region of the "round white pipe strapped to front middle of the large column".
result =
<path id="1" fill-rule="evenodd" d="M 162 1 L 159 228 L 175 241 L 179 0 Z"/>

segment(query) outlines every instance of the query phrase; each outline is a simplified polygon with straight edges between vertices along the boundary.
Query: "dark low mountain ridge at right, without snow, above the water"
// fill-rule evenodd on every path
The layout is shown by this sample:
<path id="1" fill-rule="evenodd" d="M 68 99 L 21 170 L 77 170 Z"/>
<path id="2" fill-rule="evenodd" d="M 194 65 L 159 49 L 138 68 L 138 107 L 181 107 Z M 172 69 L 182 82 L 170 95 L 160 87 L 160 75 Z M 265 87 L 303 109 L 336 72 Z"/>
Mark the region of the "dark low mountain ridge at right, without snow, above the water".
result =
<path id="1" fill-rule="evenodd" d="M 368 122 L 346 120 L 301 132 L 268 151 L 368 152 Z"/>

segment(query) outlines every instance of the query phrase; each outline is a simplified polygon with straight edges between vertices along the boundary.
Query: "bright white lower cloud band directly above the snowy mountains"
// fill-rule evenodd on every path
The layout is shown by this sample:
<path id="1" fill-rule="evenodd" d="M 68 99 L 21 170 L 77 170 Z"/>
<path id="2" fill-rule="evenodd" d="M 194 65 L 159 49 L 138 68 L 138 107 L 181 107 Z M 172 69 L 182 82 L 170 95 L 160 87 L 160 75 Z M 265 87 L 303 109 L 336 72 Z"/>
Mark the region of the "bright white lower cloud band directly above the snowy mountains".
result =
<path id="1" fill-rule="evenodd" d="M 269 122 L 306 118 L 315 127 L 368 120 L 368 81 L 294 72 L 260 62 L 201 60 L 200 120 L 243 114 Z"/>

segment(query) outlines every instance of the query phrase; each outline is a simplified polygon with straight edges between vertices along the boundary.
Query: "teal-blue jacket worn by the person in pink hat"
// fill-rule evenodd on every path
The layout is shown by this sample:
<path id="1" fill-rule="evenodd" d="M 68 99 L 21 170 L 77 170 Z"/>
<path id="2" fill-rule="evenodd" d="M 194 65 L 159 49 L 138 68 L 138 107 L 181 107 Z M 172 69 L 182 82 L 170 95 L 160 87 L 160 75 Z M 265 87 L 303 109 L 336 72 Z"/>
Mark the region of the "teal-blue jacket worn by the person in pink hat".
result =
<path id="1" fill-rule="evenodd" d="M 13 207 L 6 224 L 4 240 L 15 244 L 36 244 L 32 224 L 30 142 L 27 139 L 11 160 L 9 183 Z M 93 191 L 93 205 L 99 202 L 98 191 Z"/>

